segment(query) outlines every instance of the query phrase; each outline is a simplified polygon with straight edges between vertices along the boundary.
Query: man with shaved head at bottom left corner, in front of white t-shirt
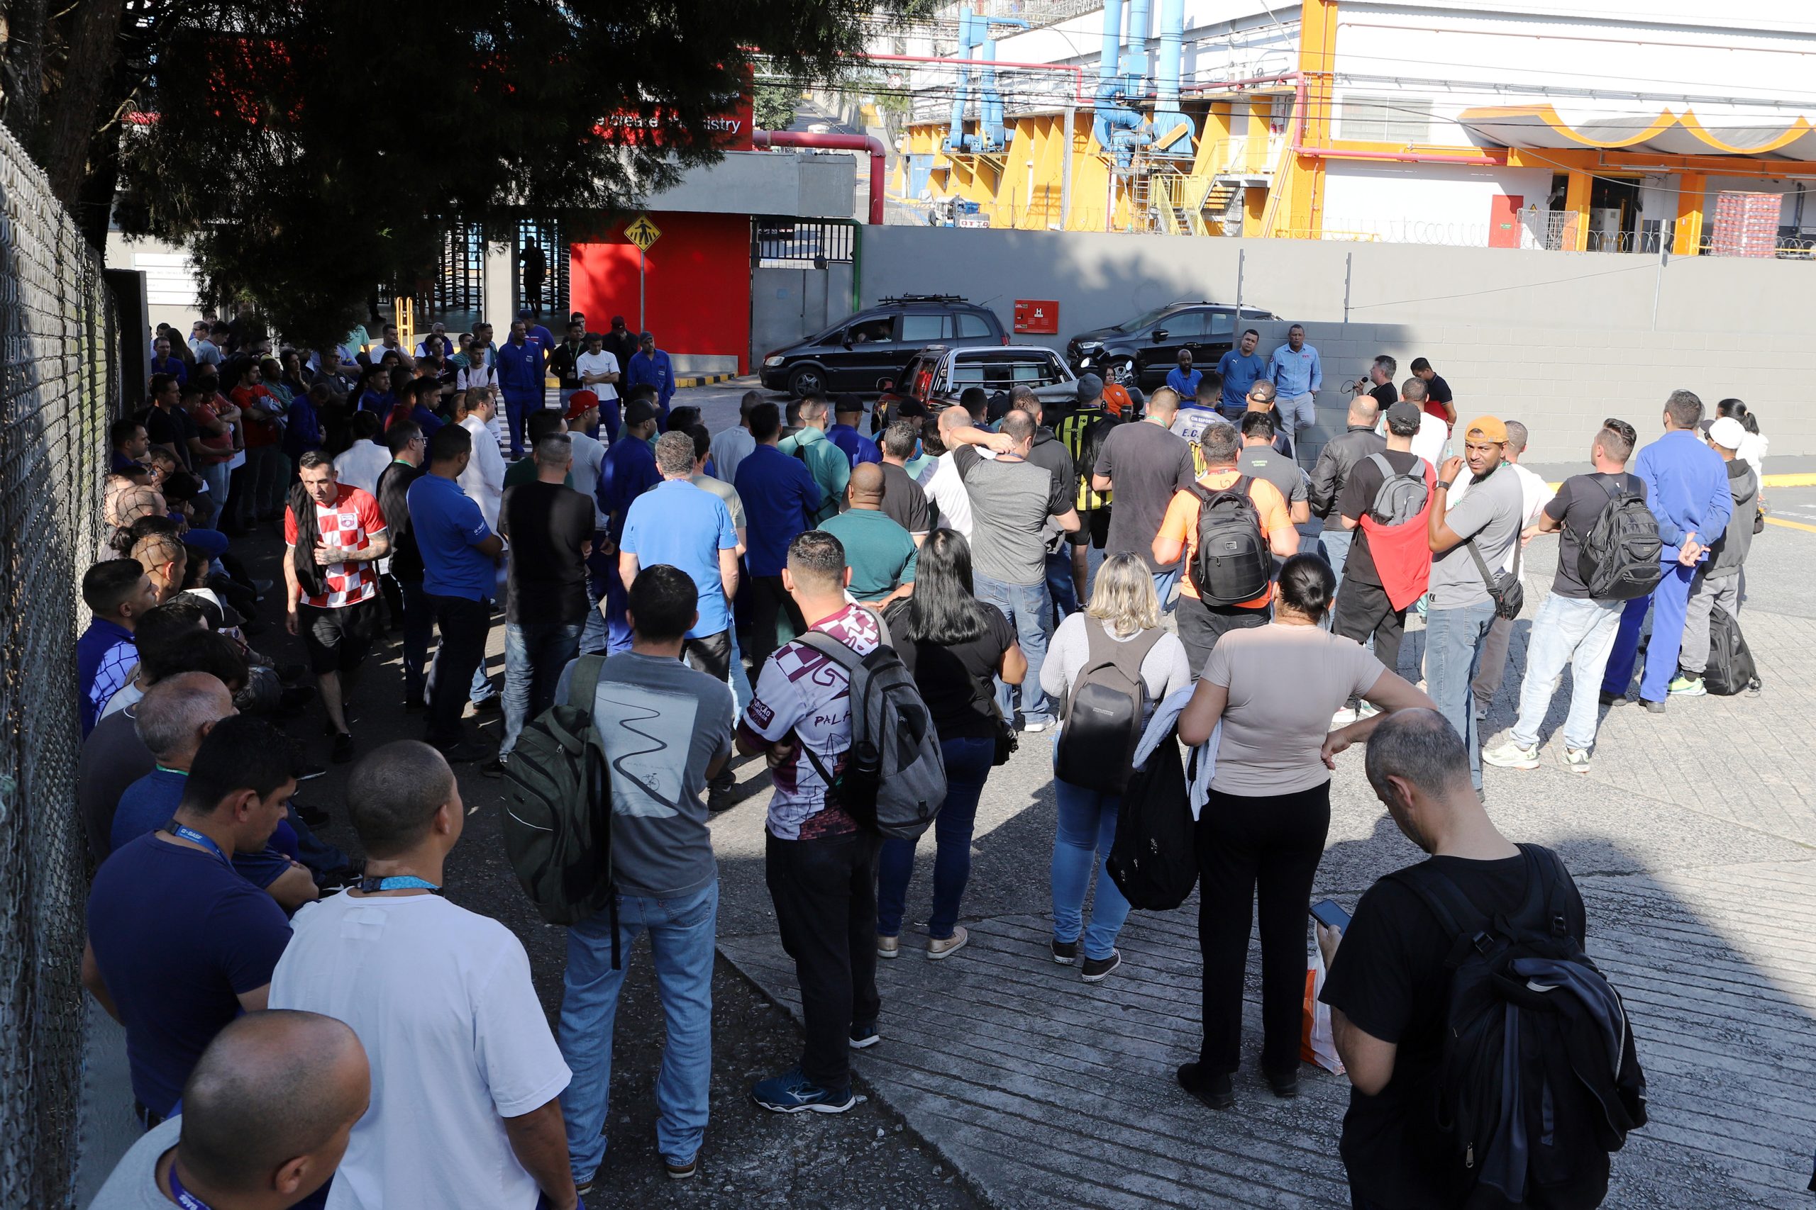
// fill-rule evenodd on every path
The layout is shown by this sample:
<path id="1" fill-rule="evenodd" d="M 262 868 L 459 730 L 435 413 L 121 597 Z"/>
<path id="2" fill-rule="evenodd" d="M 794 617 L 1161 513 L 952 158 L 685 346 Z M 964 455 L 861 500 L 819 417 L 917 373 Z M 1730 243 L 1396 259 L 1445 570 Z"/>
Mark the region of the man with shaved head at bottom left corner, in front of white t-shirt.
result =
<path id="1" fill-rule="evenodd" d="M 316 1012 L 249 1012 L 183 1085 L 183 1112 L 133 1145 L 89 1210 L 283 1210 L 321 1188 L 370 1103 L 365 1047 Z"/>

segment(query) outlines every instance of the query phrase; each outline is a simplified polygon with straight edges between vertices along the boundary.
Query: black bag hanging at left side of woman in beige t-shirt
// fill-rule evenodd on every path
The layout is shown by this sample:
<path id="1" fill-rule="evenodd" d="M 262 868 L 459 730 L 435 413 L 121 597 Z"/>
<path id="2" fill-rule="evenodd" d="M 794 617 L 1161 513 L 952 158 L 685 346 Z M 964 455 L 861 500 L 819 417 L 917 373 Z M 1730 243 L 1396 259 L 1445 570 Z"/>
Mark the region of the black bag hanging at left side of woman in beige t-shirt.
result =
<path id="1" fill-rule="evenodd" d="M 1168 912 L 1199 885 L 1199 851 L 1179 727 L 1160 740 L 1148 764 L 1130 775 L 1117 809 L 1117 838 L 1104 858 L 1117 891 L 1151 912 Z"/>

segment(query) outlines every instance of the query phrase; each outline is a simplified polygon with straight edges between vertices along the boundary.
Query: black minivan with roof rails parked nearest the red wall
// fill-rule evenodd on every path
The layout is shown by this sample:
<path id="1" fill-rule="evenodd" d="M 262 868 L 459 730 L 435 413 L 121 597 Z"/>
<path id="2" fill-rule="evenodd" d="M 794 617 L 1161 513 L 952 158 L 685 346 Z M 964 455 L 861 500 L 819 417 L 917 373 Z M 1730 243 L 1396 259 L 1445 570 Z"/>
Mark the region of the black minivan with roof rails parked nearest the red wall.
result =
<path id="1" fill-rule="evenodd" d="M 886 298 L 819 336 L 777 348 L 759 370 L 770 390 L 879 392 L 928 345 L 1008 345 L 997 312 L 952 294 Z"/>

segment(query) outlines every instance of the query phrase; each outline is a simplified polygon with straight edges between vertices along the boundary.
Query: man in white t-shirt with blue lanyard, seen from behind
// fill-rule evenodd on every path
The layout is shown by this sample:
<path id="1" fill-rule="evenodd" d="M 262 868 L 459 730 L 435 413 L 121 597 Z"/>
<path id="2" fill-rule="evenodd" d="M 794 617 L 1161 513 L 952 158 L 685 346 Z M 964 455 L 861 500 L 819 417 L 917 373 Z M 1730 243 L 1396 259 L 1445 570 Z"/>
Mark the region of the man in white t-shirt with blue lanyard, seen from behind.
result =
<path id="1" fill-rule="evenodd" d="M 329 1210 L 574 1210 L 559 1094 L 568 1067 L 505 925 L 441 898 L 467 809 L 447 760 L 387 744 L 347 782 L 360 887 L 298 912 L 272 1009 L 352 1027 L 372 1063 Z"/>

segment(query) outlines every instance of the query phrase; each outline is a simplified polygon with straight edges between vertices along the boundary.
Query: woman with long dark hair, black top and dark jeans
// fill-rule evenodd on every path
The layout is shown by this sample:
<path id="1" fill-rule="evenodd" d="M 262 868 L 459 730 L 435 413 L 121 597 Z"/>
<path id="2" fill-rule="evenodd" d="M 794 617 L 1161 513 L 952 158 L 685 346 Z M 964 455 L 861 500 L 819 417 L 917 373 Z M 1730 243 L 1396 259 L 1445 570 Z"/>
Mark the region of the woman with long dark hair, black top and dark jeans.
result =
<path id="1" fill-rule="evenodd" d="M 995 678 L 1021 684 L 1028 659 L 1015 628 L 972 593 L 972 546 L 957 530 L 933 530 L 921 546 L 906 628 L 895 642 L 933 717 L 946 760 L 946 802 L 933 818 L 933 914 L 926 956 L 964 947 L 959 900 L 972 876 L 972 825 L 997 753 Z M 901 952 L 903 903 L 913 876 L 913 840 L 884 840 L 877 858 L 877 956 Z"/>

